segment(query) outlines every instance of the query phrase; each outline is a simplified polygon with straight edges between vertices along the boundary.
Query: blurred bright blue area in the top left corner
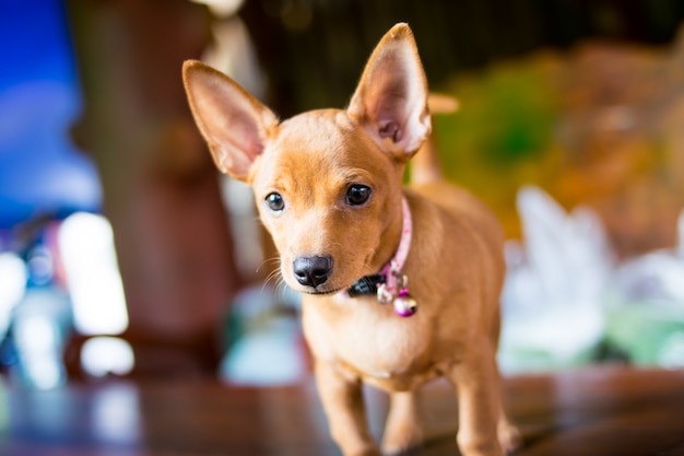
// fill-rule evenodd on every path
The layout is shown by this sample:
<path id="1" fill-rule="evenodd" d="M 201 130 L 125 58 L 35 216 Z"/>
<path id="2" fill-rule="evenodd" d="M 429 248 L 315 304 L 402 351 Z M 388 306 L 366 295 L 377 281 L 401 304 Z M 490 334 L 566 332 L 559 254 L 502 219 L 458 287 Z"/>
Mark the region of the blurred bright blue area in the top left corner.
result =
<path id="1" fill-rule="evenodd" d="M 97 211 L 96 169 L 69 128 L 81 100 L 63 0 L 0 0 L 0 230 Z"/>

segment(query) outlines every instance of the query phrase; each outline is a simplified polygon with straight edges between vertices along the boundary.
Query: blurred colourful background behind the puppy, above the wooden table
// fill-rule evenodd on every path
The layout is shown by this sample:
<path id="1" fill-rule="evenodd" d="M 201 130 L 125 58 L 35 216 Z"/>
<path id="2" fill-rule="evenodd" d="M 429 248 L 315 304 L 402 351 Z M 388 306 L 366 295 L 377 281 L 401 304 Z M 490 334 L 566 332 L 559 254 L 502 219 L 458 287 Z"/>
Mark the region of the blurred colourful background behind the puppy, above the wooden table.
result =
<path id="1" fill-rule="evenodd" d="M 0 0 L 0 371 L 307 375 L 249 190 L 219 176 L 186 59 L 281 118 L 344 107 L 414 31 L 448 177 L 508 242 L 505 373 L 684 365 L 679 0 Z"/>

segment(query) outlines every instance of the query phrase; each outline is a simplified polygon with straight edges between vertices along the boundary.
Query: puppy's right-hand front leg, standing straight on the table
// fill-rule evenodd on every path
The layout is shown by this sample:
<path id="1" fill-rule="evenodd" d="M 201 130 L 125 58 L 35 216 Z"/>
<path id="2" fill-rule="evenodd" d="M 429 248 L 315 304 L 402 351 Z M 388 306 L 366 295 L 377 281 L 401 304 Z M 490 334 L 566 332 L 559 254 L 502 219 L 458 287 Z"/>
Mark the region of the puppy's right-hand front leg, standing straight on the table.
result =
<path id="1" fill-rule="evenodd" d="M 475 342 L 481 349 L 471 350 L 449 373 L 459 401 L 457 442 L 463 456 L 502 456 L 497 425 L 503 410 L 495 351 L 488 340 Z"/>

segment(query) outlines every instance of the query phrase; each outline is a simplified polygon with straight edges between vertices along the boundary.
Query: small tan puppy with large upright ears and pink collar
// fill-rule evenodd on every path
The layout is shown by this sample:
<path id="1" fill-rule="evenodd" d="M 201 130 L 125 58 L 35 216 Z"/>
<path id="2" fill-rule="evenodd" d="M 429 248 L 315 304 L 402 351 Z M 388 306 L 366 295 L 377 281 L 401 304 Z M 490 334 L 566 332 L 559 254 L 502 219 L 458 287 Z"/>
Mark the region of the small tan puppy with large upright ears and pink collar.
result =
<path id="1" fill-rule="evenodd" d="M 303 295 L 303 326 L 330 432 L 345 456 L 378 455 L 362 383 L 390 394 L 384 454 L 421 444 L 415 390 L 446 376 L 461 453 L 502 455 L 518 439 L 502 406 L 496 350 L 504 237 L 495 217 L 436 169 L 409 160 L 431 133 L 413 34 L 397 24 L 345 110 L 280 121 L 237 83 L 184 65 L 194 120 L 219 169 L 248 183 Z M 429 159 L 429 157 L 426 157 Z"/>

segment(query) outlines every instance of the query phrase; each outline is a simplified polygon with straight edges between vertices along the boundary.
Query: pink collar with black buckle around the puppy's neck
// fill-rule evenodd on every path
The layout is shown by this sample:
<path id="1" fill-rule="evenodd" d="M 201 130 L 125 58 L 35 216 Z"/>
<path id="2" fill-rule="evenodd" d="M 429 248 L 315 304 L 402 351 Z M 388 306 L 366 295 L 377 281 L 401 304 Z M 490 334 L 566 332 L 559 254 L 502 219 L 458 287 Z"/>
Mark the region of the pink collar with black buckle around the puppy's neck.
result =
<path id="1" fill-rule="evenodd" d="M 380 269 L 377 274 L 365 276 L 358 279 L 346 290 L 351 297 L 361 295 L 376 295 L 378 287 L 386 284 L 390 290 L 394 290 L 397 279 L 402 274 L 403 267 L 411 249 L 411 238 L 413 237 L 413 219 L 411 218 L 411 207 L 406 197 L 401 198 L 402 204 L 402 229 L 399 238 L 399 246 L 390 260 Z"/>

